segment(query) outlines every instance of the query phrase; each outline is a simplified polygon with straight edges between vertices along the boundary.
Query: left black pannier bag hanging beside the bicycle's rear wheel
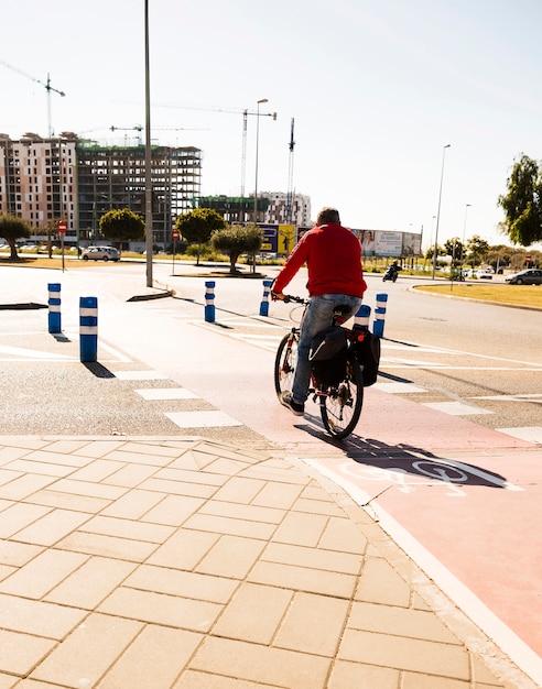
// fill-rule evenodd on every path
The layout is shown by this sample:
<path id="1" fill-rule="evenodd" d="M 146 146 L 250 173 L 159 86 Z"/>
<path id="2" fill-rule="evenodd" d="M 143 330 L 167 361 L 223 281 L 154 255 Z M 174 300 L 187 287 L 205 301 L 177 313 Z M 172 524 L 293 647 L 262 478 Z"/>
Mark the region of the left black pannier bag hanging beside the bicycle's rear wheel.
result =
<path id="1" fill-rule="evenodd" d="M 344 380 L 347 353 L 344 328 L 330 326 L 314 336 L 308 361 L 318 387 L 333 387 Z"/>

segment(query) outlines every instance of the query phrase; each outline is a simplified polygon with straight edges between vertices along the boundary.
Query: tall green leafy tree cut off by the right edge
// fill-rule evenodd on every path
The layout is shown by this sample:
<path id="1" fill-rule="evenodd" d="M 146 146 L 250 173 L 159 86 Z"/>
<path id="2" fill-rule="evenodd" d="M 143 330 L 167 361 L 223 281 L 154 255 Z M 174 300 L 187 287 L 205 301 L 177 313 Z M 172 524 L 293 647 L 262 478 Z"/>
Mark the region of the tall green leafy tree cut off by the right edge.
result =
<path id="1" fill-rule="evenodd" d="M 499 196 L 505 211 L 503 231 L 514 244 L 529 247 L 542 239 L 542 169 L 527 155 L 514 161 L 507 179 L 508 194 Z"/>

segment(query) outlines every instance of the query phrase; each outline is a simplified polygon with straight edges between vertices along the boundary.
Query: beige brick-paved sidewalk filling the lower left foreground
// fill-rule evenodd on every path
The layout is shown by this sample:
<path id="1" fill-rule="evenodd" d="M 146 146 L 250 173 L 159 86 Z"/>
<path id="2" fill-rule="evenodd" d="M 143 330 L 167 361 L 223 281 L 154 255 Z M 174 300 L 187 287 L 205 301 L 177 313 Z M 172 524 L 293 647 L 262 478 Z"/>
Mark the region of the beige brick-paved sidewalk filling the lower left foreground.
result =
<path id="1" fill-rule="evenodd" d="M 53 687 L 535 685 L 301 462 L 0 436 L 0 689 Z"/>

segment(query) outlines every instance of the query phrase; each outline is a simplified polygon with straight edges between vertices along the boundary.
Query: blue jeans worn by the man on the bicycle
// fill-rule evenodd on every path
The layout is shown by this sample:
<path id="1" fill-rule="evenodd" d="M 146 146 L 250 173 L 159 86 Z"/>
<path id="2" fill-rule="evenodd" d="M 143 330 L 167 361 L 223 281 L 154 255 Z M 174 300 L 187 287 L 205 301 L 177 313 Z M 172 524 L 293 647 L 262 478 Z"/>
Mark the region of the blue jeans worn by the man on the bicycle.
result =
<path id="1" fill-rule="evenodd" d="M 308 353 L 314 336 L 332 325 L 333 310 L 336 306 L 347 305 L 350 313 L 345 320 L 354 316 L 361 306 L 361 297 L 353 297 L 346 294 L 323 294 L 311 297 L 301 324 L 300 341 L 297 344 L 297 364 L 295 367 L 292 384 L 292 397 L 297 404 L 304 404 L 308 395 L 311 383 L 311 363 Z"/>

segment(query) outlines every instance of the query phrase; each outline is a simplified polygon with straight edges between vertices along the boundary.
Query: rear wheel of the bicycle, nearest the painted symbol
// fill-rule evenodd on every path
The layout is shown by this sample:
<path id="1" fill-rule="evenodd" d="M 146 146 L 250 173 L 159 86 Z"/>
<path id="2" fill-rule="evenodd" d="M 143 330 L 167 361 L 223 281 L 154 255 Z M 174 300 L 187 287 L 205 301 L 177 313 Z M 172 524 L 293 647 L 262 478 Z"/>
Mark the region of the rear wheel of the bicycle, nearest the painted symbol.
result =
<path id="1" fill-rule="evenodd" d="M 346 438 L 357 426 L 364 406 L 364 378 L 354 352 L 348 352 L 346 375 L 319 397 L 319 411 L 327 433 Z"/>

